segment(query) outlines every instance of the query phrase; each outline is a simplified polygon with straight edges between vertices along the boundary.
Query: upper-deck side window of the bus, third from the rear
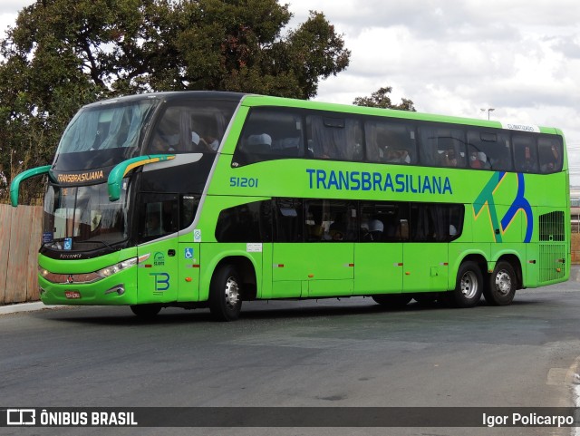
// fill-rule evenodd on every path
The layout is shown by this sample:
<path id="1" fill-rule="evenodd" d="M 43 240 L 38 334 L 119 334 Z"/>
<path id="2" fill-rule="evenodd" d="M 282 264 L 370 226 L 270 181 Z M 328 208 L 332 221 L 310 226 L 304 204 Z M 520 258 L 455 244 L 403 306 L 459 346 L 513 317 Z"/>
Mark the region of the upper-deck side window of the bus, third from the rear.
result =
<path id="1" fill-rule="evenodd" d="M 503 131 L 468 131 L 469 166 L 494 171 L 512 170 L 509 135 Z M 471 156 L 477 160 L 471 160 Z"/>

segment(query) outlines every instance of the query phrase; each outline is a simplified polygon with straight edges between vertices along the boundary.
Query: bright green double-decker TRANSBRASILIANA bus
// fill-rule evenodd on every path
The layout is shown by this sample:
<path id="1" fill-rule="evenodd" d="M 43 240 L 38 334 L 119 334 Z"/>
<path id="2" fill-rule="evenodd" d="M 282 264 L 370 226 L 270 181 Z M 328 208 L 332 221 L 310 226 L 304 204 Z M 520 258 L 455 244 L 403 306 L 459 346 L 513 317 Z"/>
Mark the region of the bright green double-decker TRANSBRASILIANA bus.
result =
<path id="1" fill-rule="evenodd" d="M 372 296 L 381 305 L 565 281 L 561 131 L 232 92 L 96 102 L 47 174 L 46 305 L 209 307 Z"/>

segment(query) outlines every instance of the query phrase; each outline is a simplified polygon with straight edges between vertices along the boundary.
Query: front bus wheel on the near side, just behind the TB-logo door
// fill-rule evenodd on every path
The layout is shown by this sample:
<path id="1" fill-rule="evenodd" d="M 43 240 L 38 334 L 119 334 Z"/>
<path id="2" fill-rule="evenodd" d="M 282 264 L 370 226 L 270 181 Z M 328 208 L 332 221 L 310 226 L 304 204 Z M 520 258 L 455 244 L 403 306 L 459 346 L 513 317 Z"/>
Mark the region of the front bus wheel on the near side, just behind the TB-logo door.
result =
<path id="1" fill-rule="evenodd" d="M 234 266 L 221 266 L 209 286 L 209 311 L 218 321 L 235 321 L 242 309 L 241 281 Z"/>

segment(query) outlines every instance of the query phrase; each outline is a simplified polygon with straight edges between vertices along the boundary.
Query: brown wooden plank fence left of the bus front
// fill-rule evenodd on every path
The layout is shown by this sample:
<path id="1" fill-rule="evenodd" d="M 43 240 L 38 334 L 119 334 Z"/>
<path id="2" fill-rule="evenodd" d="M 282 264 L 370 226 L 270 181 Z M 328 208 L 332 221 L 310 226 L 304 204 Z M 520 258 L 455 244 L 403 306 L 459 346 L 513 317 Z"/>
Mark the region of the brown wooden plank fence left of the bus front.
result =
<path id="1" fill-rule="evenodd" d="M 43 208 L 0 204 L 0 305 L 36 301 Z"/>

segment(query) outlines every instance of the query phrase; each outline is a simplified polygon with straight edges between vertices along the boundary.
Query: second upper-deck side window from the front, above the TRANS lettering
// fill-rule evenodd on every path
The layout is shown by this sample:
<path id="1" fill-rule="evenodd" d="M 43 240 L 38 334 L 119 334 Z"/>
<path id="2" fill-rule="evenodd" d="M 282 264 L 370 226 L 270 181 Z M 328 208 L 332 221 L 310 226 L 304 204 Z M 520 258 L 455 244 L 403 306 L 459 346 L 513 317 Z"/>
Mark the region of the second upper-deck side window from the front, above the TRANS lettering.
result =
<path id="1" fill-rule="evenodd" d="M 362 129 L 358 120 L 338 115 L 306 117 L 308 153 L 317 159 L 362 160 Z"/>

